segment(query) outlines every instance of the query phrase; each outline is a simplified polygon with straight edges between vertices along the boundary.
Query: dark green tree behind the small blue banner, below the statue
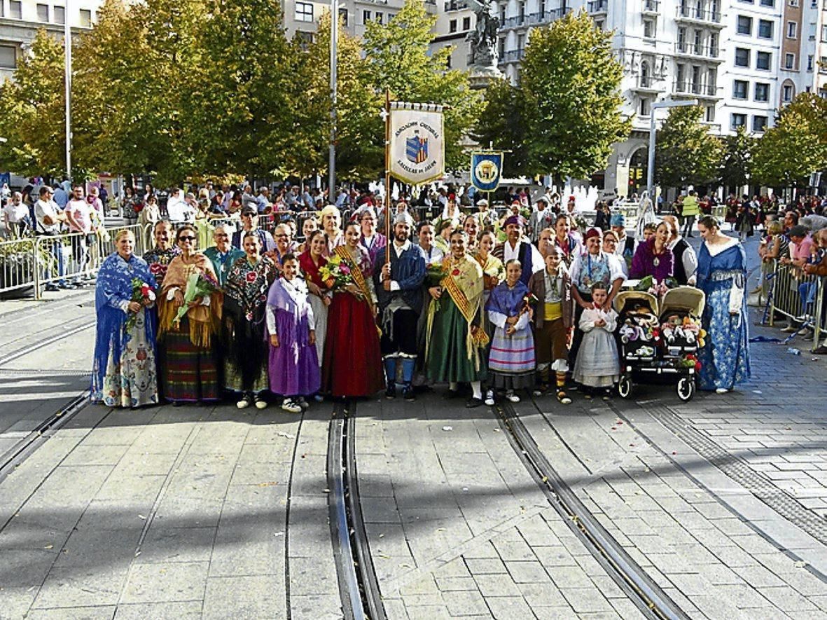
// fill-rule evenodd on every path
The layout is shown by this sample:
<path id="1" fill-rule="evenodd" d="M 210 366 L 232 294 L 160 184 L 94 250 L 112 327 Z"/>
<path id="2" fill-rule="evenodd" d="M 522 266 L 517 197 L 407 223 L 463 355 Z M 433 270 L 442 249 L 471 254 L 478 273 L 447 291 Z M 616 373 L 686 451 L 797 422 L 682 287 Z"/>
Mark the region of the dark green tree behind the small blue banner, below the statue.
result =
<path id="1" fill-rule="evenodd" d="M 485 108 L 471 136 L 481 147 L 510 151 L 504 155 L 504 176 L 530 175 L 526 148 L 523 94 L 508 79 L 497 79 L 485 89 Z"/>

